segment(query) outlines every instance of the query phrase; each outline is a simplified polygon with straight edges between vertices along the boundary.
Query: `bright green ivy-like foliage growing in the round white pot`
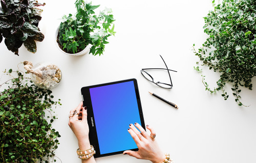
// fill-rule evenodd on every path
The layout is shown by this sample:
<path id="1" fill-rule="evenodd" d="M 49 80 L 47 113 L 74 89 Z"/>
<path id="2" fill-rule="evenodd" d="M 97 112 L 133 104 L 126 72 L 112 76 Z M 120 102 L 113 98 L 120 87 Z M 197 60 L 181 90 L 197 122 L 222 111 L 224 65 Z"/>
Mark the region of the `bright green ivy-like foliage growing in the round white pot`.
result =
<path id="1" fill-rule="evenodd" d="M 95 56 L 102 55 L 105 44 L 109 43 L 106 40 L 116 33 L 112 10 L 105 9 L 97 16 L 93 10 L 100 5 L 92 6 L 92 3 L 85 3 L 83 0 L 77 0 L 75 5 L 75 17 L 72 14 L 64 15 L 63 22 L 60 23 L 57 38 L 59 46 L 67 52 L 76 53 L 91 44 L 90 53 Z"/>

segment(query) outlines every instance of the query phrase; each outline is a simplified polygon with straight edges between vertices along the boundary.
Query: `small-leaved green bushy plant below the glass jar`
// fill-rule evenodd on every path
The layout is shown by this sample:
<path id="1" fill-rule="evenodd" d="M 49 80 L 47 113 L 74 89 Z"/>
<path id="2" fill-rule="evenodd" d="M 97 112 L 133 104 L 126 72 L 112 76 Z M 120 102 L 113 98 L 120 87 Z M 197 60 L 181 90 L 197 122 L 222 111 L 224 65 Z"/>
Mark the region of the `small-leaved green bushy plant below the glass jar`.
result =
<path id="1" fill-rule="evenodd" d="M 53 101 L 52 91 L 31 84 L 22 72 L 5 73 L 12 78 L 0 85 L 7 88 L 0 92 L 0 162 L 52 162 L 60 137 L 52 128 L 52 106 L 60 101 Z"/>

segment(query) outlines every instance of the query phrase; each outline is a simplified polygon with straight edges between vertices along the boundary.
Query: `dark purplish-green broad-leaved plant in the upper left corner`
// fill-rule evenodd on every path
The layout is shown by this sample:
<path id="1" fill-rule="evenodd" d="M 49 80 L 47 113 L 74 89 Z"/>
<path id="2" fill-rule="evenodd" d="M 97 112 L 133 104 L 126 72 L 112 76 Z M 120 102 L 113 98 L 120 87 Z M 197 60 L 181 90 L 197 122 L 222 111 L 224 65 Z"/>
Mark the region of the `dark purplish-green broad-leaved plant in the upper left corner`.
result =
<path id="1" fill-rule="evenodd" d="M 5 37 L 9 50 L 18 55 L 18 48 L 24 44 L 28 51 L 36 52 L 35 41 L 44 40 L 45 36 L 37 27 L 41 20 L 41 9 L 45 6 L 35 0 L 1 0 L 0 7 L 0 43 Z"/>

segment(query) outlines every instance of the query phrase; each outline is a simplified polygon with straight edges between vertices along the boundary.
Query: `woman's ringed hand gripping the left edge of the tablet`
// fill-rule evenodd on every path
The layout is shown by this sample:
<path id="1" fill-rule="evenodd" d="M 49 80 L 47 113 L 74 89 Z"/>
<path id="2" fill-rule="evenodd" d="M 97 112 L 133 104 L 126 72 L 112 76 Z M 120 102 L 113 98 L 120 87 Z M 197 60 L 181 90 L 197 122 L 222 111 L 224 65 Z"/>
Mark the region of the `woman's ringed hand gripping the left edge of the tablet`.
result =
<path id="1" fill-rule="evenodd" d="M 76 135 L 78 140 L 78 146 L 80 149 L 90 149 L 90 141 L 89 141 L 89 126 L 87 123 L 87 108 L 82 107 L 82 101 L 79 105 L 70 111 L 70 114 L 76 111 L 74 116 L 69 118 L 69 126 Z"/>

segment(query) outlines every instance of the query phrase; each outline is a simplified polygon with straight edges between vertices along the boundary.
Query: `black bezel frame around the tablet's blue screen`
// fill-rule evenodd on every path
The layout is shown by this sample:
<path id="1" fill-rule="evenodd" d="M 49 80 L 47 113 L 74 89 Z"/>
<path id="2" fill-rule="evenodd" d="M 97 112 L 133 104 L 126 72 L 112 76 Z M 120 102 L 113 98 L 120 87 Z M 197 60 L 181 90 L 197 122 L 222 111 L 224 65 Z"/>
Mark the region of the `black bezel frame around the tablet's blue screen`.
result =
<path id="1" fill-rule="evenodd" d="M 108 86 L 108 85 L 118 84 L 118 83 L 124 83 L 124 82 L 132 82 L 132 81 L 134 82 L 134 88 L 135 88 L 137 104 L 138 104 L 138 108 L 139 108 L 139 115 L 140 115 L 141 126 L 145 129 L 145 123 L 144 123 L 144 118 L 143 118 L 143 113 L 142 113 L 141 102 L 140 102 L 139 88 L 138 88 L 137 80 L 135 78 L 126 79 L 126 80 L 120 80 L 120 81 L 117 81 L 117 82 L 111 82 L 111 83 L 87 86 L 87 87 L 81 88 L 83 106 L 87 106 L 87 114 L 88 114 L 87 120 L 88 120 L 88 125 L 89 125 L 89 139 L 90 139 L 91 145 L 94 146 L 94 149 L 96 151 L 96 154 L 94 154 L 95 158 L 97 158 L 97 157 L 104 157 L 104 156 L 110 156 L 110 155 L 115 155 L 115 154 L 120 154 L 120 153 L 123 153 L 123 151 L 100 154 L 98 137 L 97 137 L 97 131 L 96 131 L 96 127 L 95 127 L 95 120 L 94 120 L 93 109 L 92 109 L 91 95 L 90 95 L 90 90 L 89 89 L 90 88 L 95 88 L 95 87 L 101 87 L 101 86 Z M 137 151 L 138 148 L 127 149 L 127 150 Z"/>

